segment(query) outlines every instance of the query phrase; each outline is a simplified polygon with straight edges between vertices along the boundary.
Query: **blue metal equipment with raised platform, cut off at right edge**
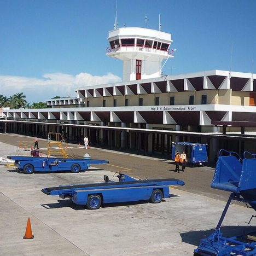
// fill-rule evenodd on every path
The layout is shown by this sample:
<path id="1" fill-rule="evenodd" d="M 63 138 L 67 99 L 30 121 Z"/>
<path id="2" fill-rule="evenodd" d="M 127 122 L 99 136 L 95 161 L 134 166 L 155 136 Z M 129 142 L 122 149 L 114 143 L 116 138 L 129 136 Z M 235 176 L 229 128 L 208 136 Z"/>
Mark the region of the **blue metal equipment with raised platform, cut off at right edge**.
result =
<path id="1" fill-rule="evenodd" d="M 244 159 L 235 152 L 224 149 L 219 152 L 211 187 L 230 191 L 231 194 L 216 229 L 200 241 L 194 255 L 256 255 L 256 230 L 229 238 L 224 237 L 221 232 L 223 219 L 232 200 L 245 202 L 247 207 L 256 211 L 256 154 L 246 151 L 243 156 Z"/>

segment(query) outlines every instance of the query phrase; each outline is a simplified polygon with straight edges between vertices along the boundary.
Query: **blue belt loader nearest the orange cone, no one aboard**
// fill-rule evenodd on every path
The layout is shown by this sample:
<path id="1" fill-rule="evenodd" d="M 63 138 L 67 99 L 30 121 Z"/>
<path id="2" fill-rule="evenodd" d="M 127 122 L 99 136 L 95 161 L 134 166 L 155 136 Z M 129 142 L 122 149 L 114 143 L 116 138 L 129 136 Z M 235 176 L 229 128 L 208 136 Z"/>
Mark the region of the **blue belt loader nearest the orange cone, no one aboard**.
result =
<path id="1" fill-rule="evenodd" d="M 119 181 L 109 181 L 104 175 L 104 183 L 60 185 L 60 187 L 44 188 L 46 195 L 59 195 L 69 198 L 77 205 L 86 205 L 89 210 L 98 209 L 102 203 L 134 202 L 150 200 L 160 203 L 169 196 L 170 185 L 184 185 L 179 179 L 144 179 L 137 180 L 122 173 L 115 173 Z"/>

